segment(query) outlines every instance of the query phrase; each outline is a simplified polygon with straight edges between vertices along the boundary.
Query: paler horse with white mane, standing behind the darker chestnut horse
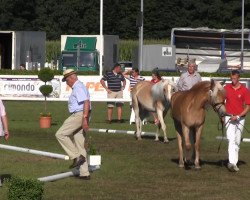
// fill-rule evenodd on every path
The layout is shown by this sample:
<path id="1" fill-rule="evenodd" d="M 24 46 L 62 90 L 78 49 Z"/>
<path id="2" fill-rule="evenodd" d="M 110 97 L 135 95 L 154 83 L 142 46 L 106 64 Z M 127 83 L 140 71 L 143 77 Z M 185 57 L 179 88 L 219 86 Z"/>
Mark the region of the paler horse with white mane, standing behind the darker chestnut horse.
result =
<path id="1" fill-rule="evenodd" d="M 141 140 L 142 120 L 150 112 L 156 112 L 160 123 L 157 125 L 155 140 L 159 140 L 160 128 L 164 132 L 164 142 L 168 142 L 164 117 L 170 108 L 171 94 L 176 88 L 175 83 L 161 80 L 156 84 L 148 81 L 138 82 L 132 90 L 132 107 L 135 112 L 136 138 Z"/>

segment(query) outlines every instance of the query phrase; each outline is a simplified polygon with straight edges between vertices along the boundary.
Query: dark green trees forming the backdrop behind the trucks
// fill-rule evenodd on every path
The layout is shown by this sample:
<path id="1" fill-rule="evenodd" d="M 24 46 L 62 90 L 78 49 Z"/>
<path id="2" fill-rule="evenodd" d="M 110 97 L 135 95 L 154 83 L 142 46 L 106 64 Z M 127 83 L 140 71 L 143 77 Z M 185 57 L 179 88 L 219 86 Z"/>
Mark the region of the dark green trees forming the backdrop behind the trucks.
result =
<path id="1" fill-rule="evenodd" d="M 139 0 L 105 0 L 103 33 L 138 38 Z M 250 0 L 245 0 L 245 11 Z M 245 27 L 250 14 L 245 12 Z M 47 39 L 62 34 L 99 34 L 100 0 L 2 0 L 1 30 L 41 30 Z M 174 27 L 241 28 L 241 1 L 144 0 L 144 38 L 166 38 Z"/>

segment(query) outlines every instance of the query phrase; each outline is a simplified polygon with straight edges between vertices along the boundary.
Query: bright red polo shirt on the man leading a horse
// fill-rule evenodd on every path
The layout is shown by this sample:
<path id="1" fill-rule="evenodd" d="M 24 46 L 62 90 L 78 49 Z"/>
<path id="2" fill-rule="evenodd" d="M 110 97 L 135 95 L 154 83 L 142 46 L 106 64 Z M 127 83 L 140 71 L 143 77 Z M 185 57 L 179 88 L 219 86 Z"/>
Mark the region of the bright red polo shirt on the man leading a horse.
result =
<path id="1" fill-rule="evenodd" d="M 224 88 L 228 114 L 239 115 L 244 110 L 244 105 L 250 105 L 250 92 L 243 84 L 238 89 L 234 89 L 231 83 Z"/>

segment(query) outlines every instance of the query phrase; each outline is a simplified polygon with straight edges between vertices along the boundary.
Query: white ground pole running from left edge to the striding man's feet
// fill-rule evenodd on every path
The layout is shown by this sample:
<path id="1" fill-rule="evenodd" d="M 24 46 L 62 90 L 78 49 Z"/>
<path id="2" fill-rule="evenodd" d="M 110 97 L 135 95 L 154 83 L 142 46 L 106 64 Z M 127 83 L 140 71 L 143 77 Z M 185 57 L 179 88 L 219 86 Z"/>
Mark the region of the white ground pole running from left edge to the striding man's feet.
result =
<path id="1" fill-rule="evenodd" d="M 28 148 L 23 148 L 23 147 L 16 147 L 16 146 L 0 144 L 0 149 L 20 151 L 20 152 L 24 152 L 24 153 L 31 153 L 31 154 L 47 156 L 47 157 L 51 157 L 51 158 L 59 158 L 59 159 L 63 159 L 63 160 L 69 160 L 69 156 L 66 156 L 63 154 L 51 153 L 51 152 L 47 152 L 47 151 L 38 151 L 38 150 L 28 149 Z"/>

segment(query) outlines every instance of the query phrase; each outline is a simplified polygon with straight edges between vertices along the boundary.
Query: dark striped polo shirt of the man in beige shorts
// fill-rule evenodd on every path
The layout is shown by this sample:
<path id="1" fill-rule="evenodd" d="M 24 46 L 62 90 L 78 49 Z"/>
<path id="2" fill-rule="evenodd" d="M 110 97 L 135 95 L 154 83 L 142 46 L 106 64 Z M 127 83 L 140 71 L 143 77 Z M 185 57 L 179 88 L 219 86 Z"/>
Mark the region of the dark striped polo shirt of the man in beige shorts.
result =
<path id="1" fill-rule="evenodd" d="M 108 89 L 113 92 L 121 91 L 122 81 L 125 80 L 122 74 L 115 74 L 113 71 L 109 71 L 103 75 L 102 80 L 107 81 Z"/>

